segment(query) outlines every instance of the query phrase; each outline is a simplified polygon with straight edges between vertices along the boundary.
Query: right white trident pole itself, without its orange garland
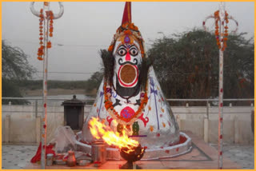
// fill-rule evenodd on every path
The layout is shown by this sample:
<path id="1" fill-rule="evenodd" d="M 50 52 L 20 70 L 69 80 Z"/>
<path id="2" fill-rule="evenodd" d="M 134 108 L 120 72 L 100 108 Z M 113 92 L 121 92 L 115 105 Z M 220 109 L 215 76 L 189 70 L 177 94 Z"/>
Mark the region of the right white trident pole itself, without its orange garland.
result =
<path id="1" fill-rule="evenodd" d="M 217 18 L 214 17 L 214 15 L 210 15 L 206 17 L 206 19 L 202 22 L 202 26 L 206 31 L 206 21 L 209 18 L 214 18 L 215 20 Z M 238 22 L 234 20 L 233 17 L 227 16 L 228 19 L 233 20 L 236 23 L 236 29 L 233 30 L 232 32 L 236 32 L 238 30 Z M 222 50 L 223 47 L 223 37 L 224 37 L 224 22 L 225 22 L 225 3 L 220 2 L 219 4 L 219 34 L 218 34 L 218 39 L 221 43 L 221 48 L 219 49 L 219 73 L 218 73 L 218 169 L 222 169 L 222 164 L 223 164 L 223 52 Z M 231 33 L 232 33 L 231 32 Z"/>

